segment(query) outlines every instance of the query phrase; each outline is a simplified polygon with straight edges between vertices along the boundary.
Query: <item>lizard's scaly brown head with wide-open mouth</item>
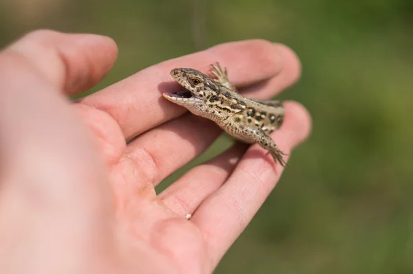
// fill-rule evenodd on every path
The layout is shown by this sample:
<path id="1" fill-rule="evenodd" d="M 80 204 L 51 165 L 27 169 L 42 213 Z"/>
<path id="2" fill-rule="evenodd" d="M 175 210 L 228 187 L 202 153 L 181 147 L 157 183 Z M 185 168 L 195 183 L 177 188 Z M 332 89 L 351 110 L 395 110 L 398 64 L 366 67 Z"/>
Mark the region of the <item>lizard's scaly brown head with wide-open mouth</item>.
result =
<path id="1" fill-rule="evenodd" d="M 209 98 L 219 94 L 220 86 L 213 78 L 190 68 L 171 70 L 172 77 L 184 87 L 181 92 L 162 94 L 167 100 L 182 105 L 190 111 L 207 105 Z"/>

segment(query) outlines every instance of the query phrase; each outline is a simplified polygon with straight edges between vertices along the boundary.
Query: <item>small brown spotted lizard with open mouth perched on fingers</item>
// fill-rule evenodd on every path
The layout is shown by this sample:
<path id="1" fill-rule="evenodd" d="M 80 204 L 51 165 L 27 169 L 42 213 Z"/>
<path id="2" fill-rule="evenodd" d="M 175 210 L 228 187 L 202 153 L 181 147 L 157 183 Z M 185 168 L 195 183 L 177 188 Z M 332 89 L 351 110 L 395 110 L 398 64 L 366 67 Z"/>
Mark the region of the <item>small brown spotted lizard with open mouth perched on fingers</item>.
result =
<path id="1" fill-rule="evenodd" d="M 174 93 L 163 93 L 168 101 L 185 107 L 189 112 L 213 120 L 229 135 L 244 143 L 258 143 L 271 154 L 275 162 L 286 165 L 286 156 L 268 136 L 281 127 L 284 105 L 281 101 L 259 101 L 242 96 L 228 79 L 226 67 L 210 65 L 207 76 L 192 68 L 177 67 L 171 76 L 184 87 Z"/>

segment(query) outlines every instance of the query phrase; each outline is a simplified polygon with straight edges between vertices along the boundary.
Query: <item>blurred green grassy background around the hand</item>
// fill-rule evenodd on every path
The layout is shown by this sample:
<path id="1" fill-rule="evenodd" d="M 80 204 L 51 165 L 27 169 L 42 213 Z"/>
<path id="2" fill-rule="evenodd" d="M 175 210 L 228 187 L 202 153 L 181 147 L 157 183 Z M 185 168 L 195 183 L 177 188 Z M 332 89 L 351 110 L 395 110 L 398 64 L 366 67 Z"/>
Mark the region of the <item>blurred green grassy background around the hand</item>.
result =
<path id="1" fill-rule="evenodd" d="M 303 74 L 282 98 L 306 105 L 313 134 L 216 273 L 413 273 L 412 0 L 0 2 L 0 46 L 36 28 L 116 41 L 96 89 L 197 43 L 289 45 Z"/>

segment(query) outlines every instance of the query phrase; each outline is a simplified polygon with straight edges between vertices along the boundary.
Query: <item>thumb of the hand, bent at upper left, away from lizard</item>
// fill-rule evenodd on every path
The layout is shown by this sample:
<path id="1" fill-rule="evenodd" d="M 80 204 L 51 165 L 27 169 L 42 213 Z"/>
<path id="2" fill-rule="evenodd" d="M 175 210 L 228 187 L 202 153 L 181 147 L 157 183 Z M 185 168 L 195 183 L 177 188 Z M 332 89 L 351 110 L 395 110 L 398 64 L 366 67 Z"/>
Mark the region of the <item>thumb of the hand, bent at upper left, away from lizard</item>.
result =
<path id="1" fill-rule="evenodd" d="M 114 65 L 116 44 L 107 36 L 38 30 L 12 43 L 1 55 L 8 70 L 23 63 L 67 95 L 85 92 Z"/>

